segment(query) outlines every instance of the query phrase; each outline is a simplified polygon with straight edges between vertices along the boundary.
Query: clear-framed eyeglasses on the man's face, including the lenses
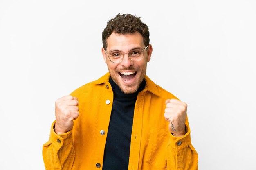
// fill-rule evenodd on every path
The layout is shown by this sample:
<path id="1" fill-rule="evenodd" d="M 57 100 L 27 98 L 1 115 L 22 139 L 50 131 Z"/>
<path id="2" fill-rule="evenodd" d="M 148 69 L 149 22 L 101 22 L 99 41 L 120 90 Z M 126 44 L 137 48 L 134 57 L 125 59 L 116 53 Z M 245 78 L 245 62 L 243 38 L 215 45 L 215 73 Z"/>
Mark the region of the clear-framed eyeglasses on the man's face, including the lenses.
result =
<path id="1" fill-rule="evenodd" d="M 148 46 L 144 48 L 132 48 L 128 52 L 123 52 L 121 50 L 111 50 L 105 51 L 108 54 L 108 58 L 112 63 L 120 63 L 124 59 L 124 54 L 128 54 L 128 57 L 132 61 L 139 61 L 144 56 L 144 50 L 146 50 Z"/>

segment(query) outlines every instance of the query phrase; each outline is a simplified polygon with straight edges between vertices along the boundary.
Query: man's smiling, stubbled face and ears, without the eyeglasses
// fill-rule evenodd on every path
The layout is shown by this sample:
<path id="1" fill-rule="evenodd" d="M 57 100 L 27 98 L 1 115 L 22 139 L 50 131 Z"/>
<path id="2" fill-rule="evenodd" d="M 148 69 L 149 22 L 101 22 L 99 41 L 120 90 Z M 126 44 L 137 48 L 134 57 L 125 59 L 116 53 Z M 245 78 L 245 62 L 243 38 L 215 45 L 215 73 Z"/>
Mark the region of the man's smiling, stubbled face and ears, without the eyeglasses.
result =
<path id="1" fill-rule="evenodd" d="M 107 50 L 122 50 L 128 52 L 132 48 L 144 48 L 143 37 L 139 32 L 133 34 L 116 34 L 112 33 L 107 39 Z M 124 59 L 120 63 L 112 63 L 108 54 L 102 48 L 101 52 L 105 63 L 108 65 L 108 71 L 113 81 L 119 86 L 122 92 L 126 94 L 135 93 L 139 89 L 139 85 L 146 74 L 147 62 L 150 61 L 152 46 L 148 46 L 148 50 L 144 50 L 144 56 L 139 61 L 132 61 L 128 54 L 124 55 Z"/>

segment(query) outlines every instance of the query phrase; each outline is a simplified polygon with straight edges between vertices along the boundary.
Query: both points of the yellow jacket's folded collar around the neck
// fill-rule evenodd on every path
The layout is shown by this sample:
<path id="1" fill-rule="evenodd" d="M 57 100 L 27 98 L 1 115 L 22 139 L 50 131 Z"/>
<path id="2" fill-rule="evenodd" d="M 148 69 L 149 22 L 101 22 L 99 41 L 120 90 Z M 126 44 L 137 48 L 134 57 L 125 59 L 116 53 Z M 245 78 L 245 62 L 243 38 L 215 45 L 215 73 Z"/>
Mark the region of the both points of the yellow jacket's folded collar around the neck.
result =
<path id="1" fill-rule="evenodd" d="M 95 85 L 100 85 L 102 83 L 106 83 L 109 81 L 109 78 L 110 78 L 110 74 L 109 72 L 106 73 L 104 76 L 102 76 L 101 78 L 99 78 L 98 80 L 94 81 L 93 83 Z M 145 86 L 145 91 L 149 91 L 153 94 L 155 94 L 156 96 L 160 96 L 159 92 L 158 92 L 158 89 L 157 89 L 157 85 L 152 81 L 150 80 L 150 78 L 148 78 L 147 75 L 145 75 L 145 80 L 146 80 L 146 86 Z M 144 91 L 143 90 L 143 91 Z"/>

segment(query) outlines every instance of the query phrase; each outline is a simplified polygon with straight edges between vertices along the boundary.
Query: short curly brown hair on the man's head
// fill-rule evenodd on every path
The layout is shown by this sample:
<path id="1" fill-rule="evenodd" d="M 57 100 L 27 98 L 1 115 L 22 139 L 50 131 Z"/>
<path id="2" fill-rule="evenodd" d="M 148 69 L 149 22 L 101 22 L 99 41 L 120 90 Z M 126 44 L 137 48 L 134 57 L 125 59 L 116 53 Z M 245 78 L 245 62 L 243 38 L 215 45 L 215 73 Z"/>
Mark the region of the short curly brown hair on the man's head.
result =
<path id="1" fill-rule="evenodd" d="M 112 18 L 107 22 L 107 26 L 102 32 L 102 44 L 104 50 L 107 50 L 107 39 L 113 32 L 124 35 L 135 33 L 135 31 L 138 31 L 142 35 L 145 46 L 148 46 L 148 26 L 141 22 L 141 18 L 131 14 L 117 14 L 115 18 Z"/>

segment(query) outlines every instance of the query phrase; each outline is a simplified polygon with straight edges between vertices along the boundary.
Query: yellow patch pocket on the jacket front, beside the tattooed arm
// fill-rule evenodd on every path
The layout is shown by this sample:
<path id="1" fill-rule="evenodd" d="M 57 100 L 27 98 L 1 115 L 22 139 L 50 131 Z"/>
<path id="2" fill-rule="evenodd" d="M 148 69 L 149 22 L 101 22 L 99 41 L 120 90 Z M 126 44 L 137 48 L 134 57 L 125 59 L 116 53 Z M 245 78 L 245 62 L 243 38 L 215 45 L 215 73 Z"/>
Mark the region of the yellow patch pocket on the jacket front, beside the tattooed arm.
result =
<path id="1" fill-rule="evenodd" d="M 151 128 L 145 159 L 152 169 L 166 170 L 166 147 L 169 138 L 168 130 Z"/>

